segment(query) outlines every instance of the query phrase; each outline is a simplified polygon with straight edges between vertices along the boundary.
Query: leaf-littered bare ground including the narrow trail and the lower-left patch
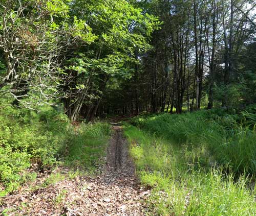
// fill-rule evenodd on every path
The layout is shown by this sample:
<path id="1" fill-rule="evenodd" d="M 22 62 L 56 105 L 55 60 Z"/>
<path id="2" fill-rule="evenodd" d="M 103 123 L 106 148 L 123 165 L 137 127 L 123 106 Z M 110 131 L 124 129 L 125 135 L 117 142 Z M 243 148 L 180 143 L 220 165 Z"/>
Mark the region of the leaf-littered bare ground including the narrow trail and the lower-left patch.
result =
<path id="1" fill-rule="evenodd" d="M 68 176 L 69 171 L 64 168 L 55 174 L 41 174 L 33 182 L 34 187 L 27 184 L 18 194 L 2 198 L 0 214 L 144 215 L 143 200 L 150 196 L 150 191 L 139 185 L 128 145 L 122 127 L 115 124 L 102 175 Z"/>

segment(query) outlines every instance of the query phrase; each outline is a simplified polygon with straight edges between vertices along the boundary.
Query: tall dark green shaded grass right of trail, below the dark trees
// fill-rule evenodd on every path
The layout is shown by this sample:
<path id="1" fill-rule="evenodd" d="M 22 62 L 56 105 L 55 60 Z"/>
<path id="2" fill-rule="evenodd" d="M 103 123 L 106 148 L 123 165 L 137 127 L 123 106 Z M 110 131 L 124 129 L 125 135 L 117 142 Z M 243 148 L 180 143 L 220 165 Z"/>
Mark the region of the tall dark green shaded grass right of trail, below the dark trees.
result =
<path id="1" fill-rule="evenodd" d="M 240 119 L 238 114 L 217 109 L 182 115 L 137 117 L 133 122 L 177 145 L 182 143 L 188 148 L 203 147 L 210 153 L 203 161 L 210 162 L 209 157 L 212 157 L 217 163 L 228 164 L 228 169 L 235 173 L 255 174 L 256 134 L 241 127 Z"/>

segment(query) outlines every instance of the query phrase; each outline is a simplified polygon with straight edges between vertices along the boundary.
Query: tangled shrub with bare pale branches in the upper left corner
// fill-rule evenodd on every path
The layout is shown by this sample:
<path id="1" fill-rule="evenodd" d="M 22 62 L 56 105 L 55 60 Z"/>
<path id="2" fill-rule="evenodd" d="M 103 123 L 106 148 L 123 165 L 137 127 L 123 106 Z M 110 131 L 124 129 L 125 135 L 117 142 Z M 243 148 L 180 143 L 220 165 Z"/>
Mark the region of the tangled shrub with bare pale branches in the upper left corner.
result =
<path id="1" fill-rule="evenodd" d="M 59 45 L 65 40 L 63 34 L 71 32 L 67 2 L 70 1 L 1 1 L 0 53 L 5 52 L 0 58 L 1 97 L 29 94 L 34 103 L 41 103 L 41 99 L 35 100 L 33 93 L 44 95 L 46 101 L 56 93 L 55 86 L 60 81 L 59 60 L 52 56 L 57 56 L 63 47 Z M 8 91 L 13 93 L 7 95 Z"/>

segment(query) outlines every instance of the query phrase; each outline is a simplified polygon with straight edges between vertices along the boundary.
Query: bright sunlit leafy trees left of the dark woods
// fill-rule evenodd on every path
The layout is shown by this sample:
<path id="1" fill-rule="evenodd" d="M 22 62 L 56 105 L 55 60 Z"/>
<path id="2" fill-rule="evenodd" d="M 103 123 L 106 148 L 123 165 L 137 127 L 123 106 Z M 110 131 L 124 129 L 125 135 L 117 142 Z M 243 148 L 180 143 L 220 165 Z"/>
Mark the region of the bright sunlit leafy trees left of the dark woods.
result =
<path id="1" fill-rule="evenodd" d="M 132 76 L 158 19 L 126 1 L 1 3 L 1 94 L 31 107 L 64 103 L 94 118 L 106 83 Z"/>

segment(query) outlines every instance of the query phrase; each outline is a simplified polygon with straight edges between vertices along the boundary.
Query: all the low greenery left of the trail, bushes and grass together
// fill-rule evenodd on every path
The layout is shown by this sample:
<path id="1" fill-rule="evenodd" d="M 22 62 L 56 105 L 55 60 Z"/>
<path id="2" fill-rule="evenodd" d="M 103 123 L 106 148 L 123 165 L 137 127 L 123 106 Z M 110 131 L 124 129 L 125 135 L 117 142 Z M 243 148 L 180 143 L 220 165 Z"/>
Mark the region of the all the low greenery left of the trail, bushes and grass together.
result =
<path id="1" fill-rule="evenodd" d="M 69 176 L 77 169 L 90 174 L 98 171 L 110 134 L 108 124 L 73 126 L 65 114 L 50 106 L 38 108 L 37 113 L 1 102 L 0 197 L 56 166 L 69 167 Z M 63 178 L 55 173 L 42 185 Z"/>

